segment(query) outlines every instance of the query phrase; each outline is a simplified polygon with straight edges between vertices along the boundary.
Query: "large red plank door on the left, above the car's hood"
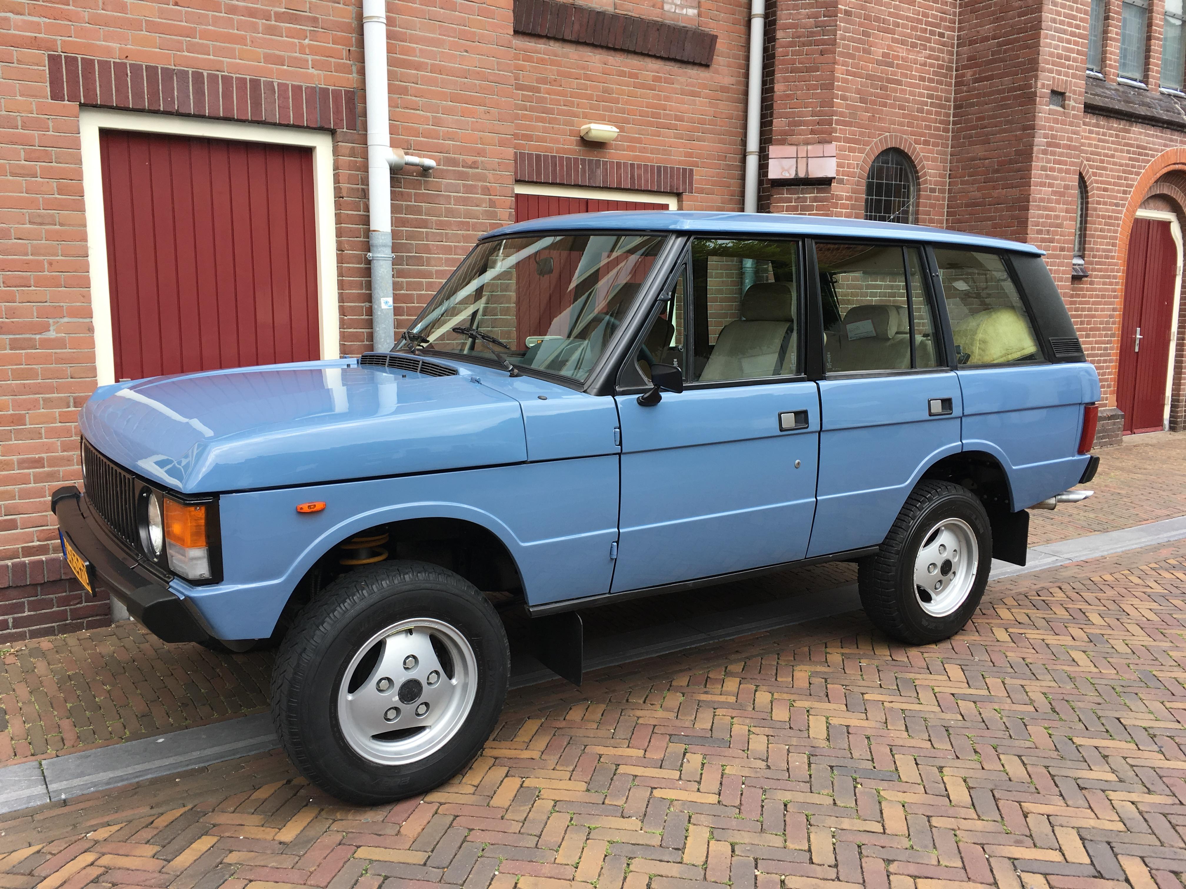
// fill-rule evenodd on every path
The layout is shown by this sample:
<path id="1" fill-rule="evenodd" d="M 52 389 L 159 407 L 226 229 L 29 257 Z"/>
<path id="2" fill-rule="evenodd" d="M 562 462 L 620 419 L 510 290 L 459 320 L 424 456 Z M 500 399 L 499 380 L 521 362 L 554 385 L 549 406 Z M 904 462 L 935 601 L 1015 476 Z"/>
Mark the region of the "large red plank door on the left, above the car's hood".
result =
<path id="1" fill-rule="evenodd" d="M 311 148 L 102 130 L 115 378 L 320 357 Z"/>

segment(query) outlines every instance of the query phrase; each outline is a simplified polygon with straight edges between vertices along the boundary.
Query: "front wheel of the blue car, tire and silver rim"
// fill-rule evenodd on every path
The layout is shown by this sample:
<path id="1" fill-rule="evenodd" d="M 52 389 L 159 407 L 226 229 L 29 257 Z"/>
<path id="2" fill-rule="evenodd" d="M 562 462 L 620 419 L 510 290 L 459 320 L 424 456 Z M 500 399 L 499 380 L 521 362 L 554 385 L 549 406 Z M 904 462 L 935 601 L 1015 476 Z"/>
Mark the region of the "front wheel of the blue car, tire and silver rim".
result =
<path id="1" fill-rule="evenodd" d="M 489 737 L 510 677 L 502 621 L 473 584 L 385 562 L 330 584 L 276 657 L 272 714 L 298 769 L 338 799 L 423 793 Z"/>

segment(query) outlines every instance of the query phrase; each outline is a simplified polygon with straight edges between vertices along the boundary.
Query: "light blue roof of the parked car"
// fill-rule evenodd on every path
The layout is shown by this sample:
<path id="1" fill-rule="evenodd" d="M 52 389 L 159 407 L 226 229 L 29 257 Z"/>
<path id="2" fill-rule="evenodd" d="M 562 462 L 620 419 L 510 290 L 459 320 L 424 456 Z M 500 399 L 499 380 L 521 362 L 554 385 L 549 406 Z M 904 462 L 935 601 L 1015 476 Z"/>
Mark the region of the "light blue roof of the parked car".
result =
<path id="1" fill-rule="evenodd" d="M 963 231 L 931 229 L 925 225 L 836 219 L 829 216 L 786 216 L 782 213 L 712 213 L 688 210 L 626 210 L 601 213 L 548 216 L 496 229 L 483 239 L 543 231 L 667 231 L 671 234 L 801 235 L 808 237 L 852 237 L 876 241 L 920 241 L 932 244 L 961 244 L 993 250 L 1014 250 L 1042 255 L 1031 244 L 969 235 Z"/>

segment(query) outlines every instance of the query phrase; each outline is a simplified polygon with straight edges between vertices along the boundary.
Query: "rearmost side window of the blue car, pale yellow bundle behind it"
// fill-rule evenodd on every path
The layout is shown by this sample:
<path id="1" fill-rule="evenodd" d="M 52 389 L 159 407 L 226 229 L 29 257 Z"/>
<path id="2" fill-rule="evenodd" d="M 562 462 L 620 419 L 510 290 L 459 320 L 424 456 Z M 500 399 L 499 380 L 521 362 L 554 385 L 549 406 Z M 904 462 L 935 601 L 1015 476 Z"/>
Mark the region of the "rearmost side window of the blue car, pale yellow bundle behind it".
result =
<path id="1" fill-rule="evenodd" d="M 996 254 L 935 250 L 959 364 L 1040 359 L 1033 325 Z"/>

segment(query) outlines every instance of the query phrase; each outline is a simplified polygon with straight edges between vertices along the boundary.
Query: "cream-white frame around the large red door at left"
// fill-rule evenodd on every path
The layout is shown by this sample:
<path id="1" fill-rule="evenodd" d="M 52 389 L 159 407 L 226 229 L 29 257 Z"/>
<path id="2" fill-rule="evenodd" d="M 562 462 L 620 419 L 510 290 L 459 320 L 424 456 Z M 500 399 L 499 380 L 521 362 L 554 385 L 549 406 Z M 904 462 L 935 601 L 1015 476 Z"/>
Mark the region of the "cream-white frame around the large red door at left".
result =
<path id="1" fill-rule="evenodd" d="M 98 153 L 101 129 L 123 129 L 238 142 L 304 146 L 313 149 L 313 217 L 317 251 L 317 315 L 321 358 L 338 357 L 338 252 L 333 222 L 333 137 L 315 129 L 260 123 L 174 117 L 166 114 L 78 109 L 82 135 L 82 191 L 87 212 L 87 255 L 90 261 L 90 306 L 95 326 L 95 370 L 98 385 L 115 382 L 111 290 L 107 268 L 107 224 L 103 170 Z"/>

